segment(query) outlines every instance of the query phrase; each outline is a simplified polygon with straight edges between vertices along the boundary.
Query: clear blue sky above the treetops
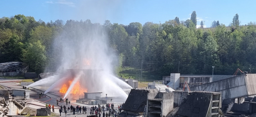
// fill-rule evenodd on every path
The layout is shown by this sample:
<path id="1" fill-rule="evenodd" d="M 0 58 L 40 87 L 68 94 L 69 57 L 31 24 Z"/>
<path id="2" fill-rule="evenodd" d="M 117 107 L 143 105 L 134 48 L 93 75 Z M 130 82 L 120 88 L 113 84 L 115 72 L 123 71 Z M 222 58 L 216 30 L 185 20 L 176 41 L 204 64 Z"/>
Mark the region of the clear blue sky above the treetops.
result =
<path id="1" fill-rule="evenodd" d="M 229 25 L 235 14 L 241 24 L 256 22 L 256 0 L 1 0 L 0 17 L 16 14 L 33 16 L 35 20 L 86 20 L 103 24 L 128 25 L 131 22 L 164 23 L 176 16 L 187 20 L 196 11 L 197 25 L 219 20 Z"/>

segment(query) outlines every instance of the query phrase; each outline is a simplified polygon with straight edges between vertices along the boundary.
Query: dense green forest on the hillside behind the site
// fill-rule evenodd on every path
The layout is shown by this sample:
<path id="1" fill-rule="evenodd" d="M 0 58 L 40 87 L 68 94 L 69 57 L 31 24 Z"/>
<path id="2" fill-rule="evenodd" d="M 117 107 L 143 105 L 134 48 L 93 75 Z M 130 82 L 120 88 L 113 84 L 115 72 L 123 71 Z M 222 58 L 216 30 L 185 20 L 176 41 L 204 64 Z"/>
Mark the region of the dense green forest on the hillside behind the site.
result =
<path id="1" fill-rule="evenodd" d="M 150 19 L 149 19 L 150 20 Z M 101 25 L 108 34 L 110 46 L 121 61 L 122 68 L 142 69 L 152 75 L 170 73 L 233 75 L 237 68 L 256 72 L 256 25 L 240 24 L 238 14 L 230 18 L 229 26 L 214 21 L 196 28 L 196 12 L 191 19 L 178 17 L 164 23 L 131 22 L 129 25 L 91 23 L 86 21 L 36 21 L 33 16 L 15 15 L 0 18 L 0 63 L 21 61 L 29 72 L 56 71 L 52 61 L 53 40 L 72 24 Z M 51 66 L 51 67 L 49 67 Z M 117 70 L 118 75 L 122 70 Z M 135 76 L 136 77 L 136 72 Z"/>

